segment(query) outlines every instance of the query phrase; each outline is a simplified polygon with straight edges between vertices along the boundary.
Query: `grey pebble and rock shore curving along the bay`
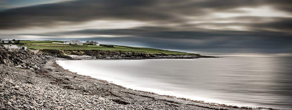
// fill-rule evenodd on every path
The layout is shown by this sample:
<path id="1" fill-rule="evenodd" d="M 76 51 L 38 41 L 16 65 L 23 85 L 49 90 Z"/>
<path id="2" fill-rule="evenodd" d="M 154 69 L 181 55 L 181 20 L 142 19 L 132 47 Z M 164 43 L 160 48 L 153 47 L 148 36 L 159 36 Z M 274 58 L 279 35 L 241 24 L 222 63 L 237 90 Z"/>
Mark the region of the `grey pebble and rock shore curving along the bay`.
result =
<path id="1" fill-rule="evenodd" d="M 10 55 L 4 53 L 7 56 L 2 58 L 7 57 L 9 60 L 0 58 L 3 61 L 10 62 L 5 65 L 0 64 L 0 82 L 3 84 L 3 86 L 1 85 L 2 89 L 0 89 L 2 98 L 0 99 L 0 110 L 6 110 L 7 108 L 21 110 L 24 108 L 63 110 L 277 110 L 205 103 L 170 95 L 158 95 L 153 92 L 127 89 L 105 80 L 65 70 L 55 61 L 64 60 L 64 58 L 34 55 L 29 51 L 17 52 L 8 52 Z M 26 56 L 23 59 L 18 58 L 21 55 Z M 10 59 L 19 60 L 11 62 Z"/>

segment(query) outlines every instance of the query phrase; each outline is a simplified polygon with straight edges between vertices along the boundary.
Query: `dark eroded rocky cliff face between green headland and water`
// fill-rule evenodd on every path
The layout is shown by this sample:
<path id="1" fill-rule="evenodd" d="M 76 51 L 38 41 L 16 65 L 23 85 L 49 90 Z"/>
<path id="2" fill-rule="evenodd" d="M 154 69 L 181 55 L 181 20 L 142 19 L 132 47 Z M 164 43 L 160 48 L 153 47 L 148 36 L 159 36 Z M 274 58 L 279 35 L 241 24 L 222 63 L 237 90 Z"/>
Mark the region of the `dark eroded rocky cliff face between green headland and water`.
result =
<path id="1" fill-rule="evenodd" d="M 48 53 L 56 55 L 61 58 L 70 58 L 68 55 L 89 55 L 94 56 L 97 59 L 153 59 L 162 58 L 167 56 L 177 57 L 177 56 L 193 56 L 193 57 L 203 57 L 199 54 L 163 54 L 163 53 L 145 53 L 137 51 L 100 51 L 100 50 L 41 50 L 43 53 Z"/>

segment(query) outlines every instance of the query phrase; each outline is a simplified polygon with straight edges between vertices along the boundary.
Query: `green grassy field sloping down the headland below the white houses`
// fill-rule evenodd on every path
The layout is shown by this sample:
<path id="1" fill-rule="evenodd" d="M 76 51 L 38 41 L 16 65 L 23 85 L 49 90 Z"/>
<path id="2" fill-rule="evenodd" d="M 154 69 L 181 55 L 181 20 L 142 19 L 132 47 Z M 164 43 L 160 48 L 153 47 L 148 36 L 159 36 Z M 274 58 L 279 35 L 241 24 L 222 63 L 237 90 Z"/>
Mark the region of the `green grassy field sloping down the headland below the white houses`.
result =
<path id="1" fill-rule="evenodd" d="M 93 45 L 65 45 L 58 44 L 52 42 L 60 42 L 63 41 L 20 41 L 22 43 L 19 46 L 26 46 L 28 49 L 50 49 L 50 50 L 101 50 L 101 51 L 137 51 L 137 52 L 145 52 L 145 53 L 163 53 L 163 54 L 191 54 L 186 52 L 177 52 L 177 51 L 168 51 L 161 49 L 152 49 L 152 48 L 141 48 L 141 47 L 131 47 L 131 46 L 116 46 L 114 47 L 106 47 L 106 46 L 93 46 Z"/>

